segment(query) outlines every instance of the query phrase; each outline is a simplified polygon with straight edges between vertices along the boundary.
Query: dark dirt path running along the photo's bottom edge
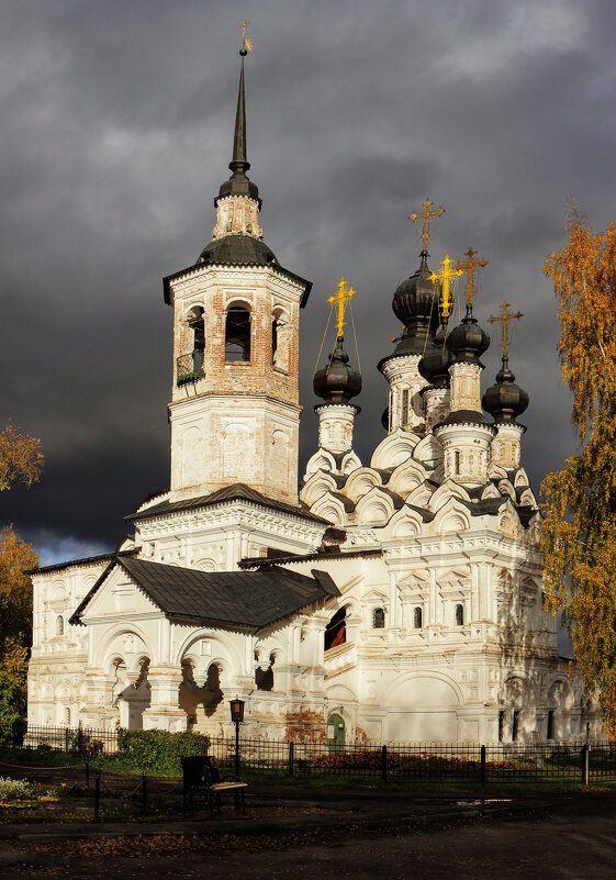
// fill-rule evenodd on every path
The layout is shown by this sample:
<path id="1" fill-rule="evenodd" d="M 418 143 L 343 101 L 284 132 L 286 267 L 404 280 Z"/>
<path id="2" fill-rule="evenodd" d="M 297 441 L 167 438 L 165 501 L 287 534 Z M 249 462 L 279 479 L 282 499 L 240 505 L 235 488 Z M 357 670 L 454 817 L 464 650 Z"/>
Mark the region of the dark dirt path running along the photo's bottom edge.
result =
<path id="1" fill-rule="evenodd" d="M 604 804 L 605 806 L 605 804 Z M 3 880 L 46 877 L 208 878 L 209 880 L 614 880 L 616 813 L 601 802 L 561 804 L 533 818 L 484 818 L 383 834 L 298 834 L 287 839 L 224 838 L 214 849 L 145 856 L 94 855 L 71 843 L 61 853 L 22 850 Z M 139 848 L 139 847 L 136 847 Z"/>

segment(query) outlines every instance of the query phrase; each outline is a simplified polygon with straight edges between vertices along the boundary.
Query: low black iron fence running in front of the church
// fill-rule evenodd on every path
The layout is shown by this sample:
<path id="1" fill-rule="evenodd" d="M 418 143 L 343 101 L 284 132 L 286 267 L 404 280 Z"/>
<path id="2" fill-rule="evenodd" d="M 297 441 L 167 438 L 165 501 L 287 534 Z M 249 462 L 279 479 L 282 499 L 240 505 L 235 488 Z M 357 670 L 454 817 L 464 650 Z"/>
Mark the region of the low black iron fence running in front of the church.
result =
<path id="1" fill-rule="evenodd" d="M 26 748 L 116 756 L 116 731 L 31 726 Z M 210 754 L 233 771 L 235 737 L 211 737 Z M 121 756 L 121 754 L 120 754 Z M 287 743 L 240 739 L 242 772 L 332 775 L 403 783 L 574 783 L 616 781 L 616 744 Z"/>

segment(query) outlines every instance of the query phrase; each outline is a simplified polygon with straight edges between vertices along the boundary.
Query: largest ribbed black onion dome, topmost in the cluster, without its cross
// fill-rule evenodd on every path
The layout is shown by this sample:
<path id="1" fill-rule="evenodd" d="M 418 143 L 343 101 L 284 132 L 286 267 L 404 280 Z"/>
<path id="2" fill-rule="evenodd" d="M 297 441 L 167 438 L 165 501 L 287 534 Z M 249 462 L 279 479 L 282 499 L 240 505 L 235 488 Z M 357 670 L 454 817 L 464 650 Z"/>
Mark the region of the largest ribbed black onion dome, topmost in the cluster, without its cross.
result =
<path id="1" fill-rule="evenodd" d="M 423 354 L 426 335 L 434 335 L 438 327 L 438 294 L 434 281 L 429 280 L 428 252 L 422 250 L 421 257 L 417 271 L 403 281 L 393 296 L 393 313 L 404 324 L 404 333 L 389 357 Z"/>

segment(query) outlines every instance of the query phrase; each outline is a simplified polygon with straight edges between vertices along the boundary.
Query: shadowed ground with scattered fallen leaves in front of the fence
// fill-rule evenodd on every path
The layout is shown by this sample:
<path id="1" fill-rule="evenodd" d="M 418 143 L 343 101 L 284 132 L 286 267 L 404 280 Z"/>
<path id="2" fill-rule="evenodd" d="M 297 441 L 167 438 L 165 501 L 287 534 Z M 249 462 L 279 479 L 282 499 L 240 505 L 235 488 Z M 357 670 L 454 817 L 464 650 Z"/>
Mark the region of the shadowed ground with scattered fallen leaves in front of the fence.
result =
<path id="1" fill-rule="evenodd" d="M 209 880 L 613 880 L 616 792 L 517 793 L 485 805 L 443 793 L 271 791 L 248 817 L 229 807 L 139 826 L 29 825 L 0 840 L 9 878 Z M 388 818 L 391 816 L 391 820 Z M 203 832 L 208 837 L 203 836 Z M 215 832 L 211 836 L 212 831 Z M 126 833 L 131 836 L 126 836 Z M 144 835 L 144 832 L 146 834 Z M 248 834 L 247 834 L 248 832 Z M 103 836 L 101 836 L 103 835 Z M 117 835 L 117 836 L 114 836 Z"/>

